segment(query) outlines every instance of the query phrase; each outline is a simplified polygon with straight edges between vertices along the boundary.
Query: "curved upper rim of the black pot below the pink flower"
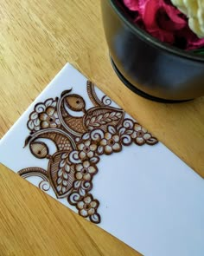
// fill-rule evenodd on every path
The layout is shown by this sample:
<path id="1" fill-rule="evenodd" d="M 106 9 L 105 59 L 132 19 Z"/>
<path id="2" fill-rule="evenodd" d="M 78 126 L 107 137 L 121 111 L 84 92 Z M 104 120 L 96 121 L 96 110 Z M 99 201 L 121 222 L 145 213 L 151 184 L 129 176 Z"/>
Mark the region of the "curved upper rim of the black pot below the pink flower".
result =
<path id="1" fill-rule="evenodd" d="M 105 1 L 105 0 L 102 0 Z M 162 43 L 159 41 L 159 39 L 156 39 L 154 36 L 151 36 L 146 31 L 140 29 L 135 23 L 132 23 L 130 19 L 128 19 L 128 16 L 125 16 L 125 13 L 121 8 L 119 7 L 118 3 L 116 3 L 117 0 L 108 0 L 108 2 L 111 4 L 112 9 L 118 14 L 121 20 L 125 23 L 125 25 L 132 30 L 134 34 L 137 34 L 141 40 L 143 40 L 145 43 L 148 43 L 157 49 L 163 49 L 165 51 L 168 51 L 169 54 L 183 57 L 186 59 L 189 59 L 191 61 L 196 62 L 204 62 L 204 56 L 196 56 L 194 53 L 189 53 L 185 51 L 184 49 L 178 49 L 174 46 L 170 46 L 167 43 Z"/>

